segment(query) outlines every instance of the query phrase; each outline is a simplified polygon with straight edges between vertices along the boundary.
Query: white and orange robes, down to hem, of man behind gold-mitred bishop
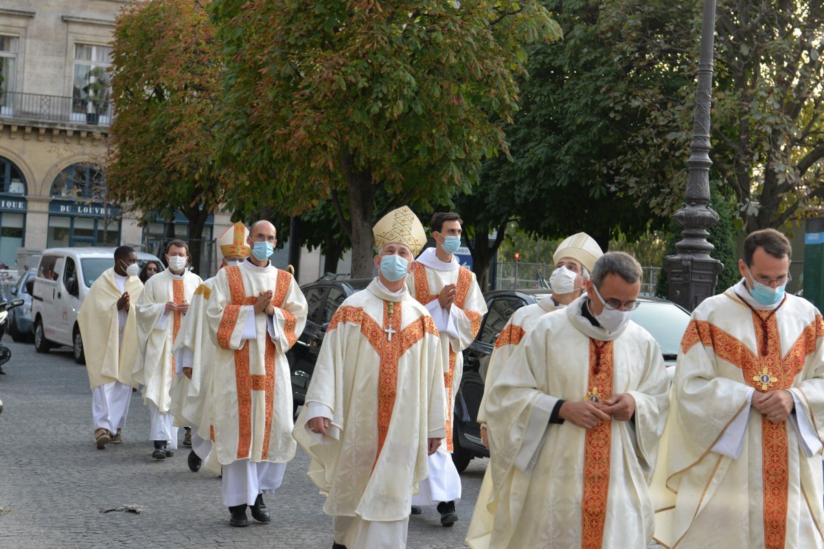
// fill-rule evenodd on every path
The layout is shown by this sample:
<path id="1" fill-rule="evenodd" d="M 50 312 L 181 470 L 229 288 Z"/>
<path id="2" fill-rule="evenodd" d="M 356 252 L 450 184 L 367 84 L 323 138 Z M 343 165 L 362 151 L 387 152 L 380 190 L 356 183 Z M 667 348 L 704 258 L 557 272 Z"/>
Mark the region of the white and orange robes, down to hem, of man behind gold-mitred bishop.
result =
<path id="1" fill-rule="evenodd" d="M 438 294 L 447 284 L 456 285 L 456 297 L 454 304 L 444 309 L 438 302 Z M 429 476 L 421 482 L 419 493 L 412 499 L 414 505 L 438 505 L 441 501 L 461 499 L 461 477 L 449 455 L 452 453 L 452 417 L 463 375 L 461 351 L 478 335 L 480 321 L 486 314 L 486 301 L 475 273 L 461 267 L 454 255 L 451 262 L 442 262 L 434 248 L 425 249 L 415 260 L 412 272 L 406 277 L 406 286 L 432 315 L 441 334 L 447 436 L 438 449 L 439 454 L 429 456 Z"/>

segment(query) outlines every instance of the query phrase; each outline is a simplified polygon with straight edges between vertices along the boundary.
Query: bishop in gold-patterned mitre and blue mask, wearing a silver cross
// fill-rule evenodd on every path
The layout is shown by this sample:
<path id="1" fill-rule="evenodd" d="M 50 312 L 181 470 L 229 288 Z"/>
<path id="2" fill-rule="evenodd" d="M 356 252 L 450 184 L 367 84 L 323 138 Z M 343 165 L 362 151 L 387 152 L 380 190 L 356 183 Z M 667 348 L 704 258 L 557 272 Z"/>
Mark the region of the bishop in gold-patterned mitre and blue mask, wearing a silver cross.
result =
<path id="1" fill-rule="evenodd" d="M 402 549 L 415 486 L 445 434 L 438 329 L 405 287 L 426 241 L 408 207 L 373 229 L 378 276 L 326 330 L 294 435 L 336 549 Z"/>

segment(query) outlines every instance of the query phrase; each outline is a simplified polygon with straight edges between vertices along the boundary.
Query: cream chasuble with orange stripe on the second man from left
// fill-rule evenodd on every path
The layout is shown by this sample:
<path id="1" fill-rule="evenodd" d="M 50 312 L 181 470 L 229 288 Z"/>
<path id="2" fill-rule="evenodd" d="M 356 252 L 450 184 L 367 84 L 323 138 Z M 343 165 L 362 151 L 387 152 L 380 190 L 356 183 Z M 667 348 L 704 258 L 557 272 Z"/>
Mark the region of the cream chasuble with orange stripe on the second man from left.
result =
<path id="1" fill-rule="evenodd" d="M 176 276 L 168 269 L 146 281 L 140 299 L 133 305 L 138 320 L 138 360 L 133 378 L 143 384 L 143 403 L 152 401 L 161 413 L 169 412 L 171 379 L 175 364 L 171 353 L 183 315 L 166 313 L 166 303 L 188 303 L 200 286 L 200 277 L 184 271 Z"/>

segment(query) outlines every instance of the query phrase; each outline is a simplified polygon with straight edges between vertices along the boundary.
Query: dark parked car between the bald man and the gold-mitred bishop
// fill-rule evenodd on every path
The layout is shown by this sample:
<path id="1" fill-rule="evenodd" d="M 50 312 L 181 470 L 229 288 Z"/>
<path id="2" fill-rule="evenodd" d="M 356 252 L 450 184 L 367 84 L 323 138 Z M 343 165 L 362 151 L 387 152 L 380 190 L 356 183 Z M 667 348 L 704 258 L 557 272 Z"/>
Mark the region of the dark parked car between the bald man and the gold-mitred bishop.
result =
<path id="1" fill-rule="evenodd" d="M 332 315 L 349 295 L 363 290 L 371 281 L 371 278 L 321 278 L 301 286 L 309 306 L 307 324 L 301 337 L 297 338 L 295 345 L 286 354 L 292 373 L 292 400 L 296 414 L 297 408 L 306 400 L 309 380 L 315 371 L 317 354 L 321 350 L 323 335 L 332 320 Z"/>

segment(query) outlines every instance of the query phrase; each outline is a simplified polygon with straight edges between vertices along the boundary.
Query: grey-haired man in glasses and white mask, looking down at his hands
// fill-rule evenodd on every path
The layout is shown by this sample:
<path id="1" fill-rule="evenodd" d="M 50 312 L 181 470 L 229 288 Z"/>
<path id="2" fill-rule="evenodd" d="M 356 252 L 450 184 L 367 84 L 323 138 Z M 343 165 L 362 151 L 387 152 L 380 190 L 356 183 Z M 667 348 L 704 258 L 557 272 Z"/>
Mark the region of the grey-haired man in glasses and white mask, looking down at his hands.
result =
<path id="1" fill-rule="evenodd" d="M 648 482 L 667 418 L 661 351 L 632 322 L 641 268 L 598 259 L 587 295 L 545 314 L 499 371 L 486 403 L 492 498 L 473 549 L 645 549 Z"/>

